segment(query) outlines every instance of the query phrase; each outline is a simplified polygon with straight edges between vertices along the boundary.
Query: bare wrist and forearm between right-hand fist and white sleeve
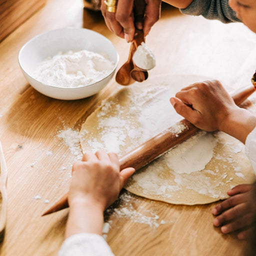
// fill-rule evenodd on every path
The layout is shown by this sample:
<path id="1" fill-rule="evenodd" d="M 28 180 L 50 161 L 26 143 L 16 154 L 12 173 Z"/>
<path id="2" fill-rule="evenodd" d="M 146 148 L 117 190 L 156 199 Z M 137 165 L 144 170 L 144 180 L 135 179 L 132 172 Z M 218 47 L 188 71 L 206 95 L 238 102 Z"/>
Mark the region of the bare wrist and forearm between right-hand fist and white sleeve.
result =
<path id="1" fill-rule="evenodd" d="M 219 130 L 245 143 L 247 135 L 255 126 L 256 116 L 246 109 L 237 108 L 228 115 L 226 120 L 220 125 Z"/>

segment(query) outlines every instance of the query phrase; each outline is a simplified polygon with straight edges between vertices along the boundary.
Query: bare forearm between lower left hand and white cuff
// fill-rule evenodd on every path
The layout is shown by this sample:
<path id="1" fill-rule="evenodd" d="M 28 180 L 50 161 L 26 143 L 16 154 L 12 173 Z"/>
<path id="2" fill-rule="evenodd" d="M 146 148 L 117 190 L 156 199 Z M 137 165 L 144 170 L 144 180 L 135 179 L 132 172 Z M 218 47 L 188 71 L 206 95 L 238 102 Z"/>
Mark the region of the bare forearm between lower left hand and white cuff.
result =
<path id="1" fill-rule="evenodd" d="M 88 200 L 70 203 L 65 238 L 76 233 L 102 234 L 103 210 Z"/>

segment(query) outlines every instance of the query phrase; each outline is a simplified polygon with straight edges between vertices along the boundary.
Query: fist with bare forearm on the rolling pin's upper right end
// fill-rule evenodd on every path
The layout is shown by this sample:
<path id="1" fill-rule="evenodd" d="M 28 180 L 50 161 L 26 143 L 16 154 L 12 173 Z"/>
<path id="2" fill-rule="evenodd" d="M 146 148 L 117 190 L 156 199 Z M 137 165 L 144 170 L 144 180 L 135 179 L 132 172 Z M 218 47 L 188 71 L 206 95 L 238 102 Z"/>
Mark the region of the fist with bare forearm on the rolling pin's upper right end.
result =
<path id="1" fill-rule="evenodd" d="M 256 126 L 256 117 L 236 106 L 217 80 L 194 83 L 175 96 L 170 102 L 176 112 L 200 129 L 221 130 L 245 143 Z"/>

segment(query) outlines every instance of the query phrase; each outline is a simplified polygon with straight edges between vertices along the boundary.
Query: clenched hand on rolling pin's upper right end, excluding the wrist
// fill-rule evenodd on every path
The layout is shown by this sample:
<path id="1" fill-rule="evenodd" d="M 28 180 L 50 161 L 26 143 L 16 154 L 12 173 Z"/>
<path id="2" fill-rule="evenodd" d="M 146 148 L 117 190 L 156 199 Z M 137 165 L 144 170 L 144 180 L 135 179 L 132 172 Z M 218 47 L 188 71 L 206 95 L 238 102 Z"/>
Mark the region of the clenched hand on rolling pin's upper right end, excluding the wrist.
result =
<path id="1" fill-rule="evenodd" d="M 176 112 L 206 130 L 220 130 L 223 121 L 238 108 L 217 80 L 197 82 L 178 91 L 170 102 Z"/>

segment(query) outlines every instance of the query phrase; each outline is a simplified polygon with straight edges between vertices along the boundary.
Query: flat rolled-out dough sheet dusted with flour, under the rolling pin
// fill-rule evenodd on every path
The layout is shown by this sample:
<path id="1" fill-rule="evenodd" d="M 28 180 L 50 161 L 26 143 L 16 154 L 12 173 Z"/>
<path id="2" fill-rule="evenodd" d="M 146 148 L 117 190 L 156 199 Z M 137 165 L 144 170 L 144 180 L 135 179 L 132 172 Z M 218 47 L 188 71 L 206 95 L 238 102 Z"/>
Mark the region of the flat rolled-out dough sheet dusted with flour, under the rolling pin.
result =
<path id="1" fill-rule="evenodd" d="M 182 117 L 174 111 L 169 98 L 182 87 L 205 79 L 164 75 L 118 87 L 83 123 L 83 152 L 104 148 L 122 156 L 175 125 Z M 231 187 L 253 180 L 241 142 L 223 132 L 201 131 L 137 170 L 125 189 L 169 203 L 203 204 L 224 199 Z"/>

